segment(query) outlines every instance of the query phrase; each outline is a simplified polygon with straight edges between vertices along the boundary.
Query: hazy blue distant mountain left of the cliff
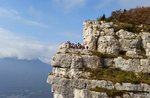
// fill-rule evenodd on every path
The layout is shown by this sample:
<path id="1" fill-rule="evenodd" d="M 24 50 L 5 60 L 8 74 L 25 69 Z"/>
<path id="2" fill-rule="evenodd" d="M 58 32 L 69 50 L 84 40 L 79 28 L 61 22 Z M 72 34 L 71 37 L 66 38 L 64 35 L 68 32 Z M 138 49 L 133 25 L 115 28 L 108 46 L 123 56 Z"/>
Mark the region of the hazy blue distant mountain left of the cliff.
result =
<path id="1" fill-rule="evenodd" d="M 39 60 L 0 59 L 0 98 L 52 98 L 51 67 Z"/>

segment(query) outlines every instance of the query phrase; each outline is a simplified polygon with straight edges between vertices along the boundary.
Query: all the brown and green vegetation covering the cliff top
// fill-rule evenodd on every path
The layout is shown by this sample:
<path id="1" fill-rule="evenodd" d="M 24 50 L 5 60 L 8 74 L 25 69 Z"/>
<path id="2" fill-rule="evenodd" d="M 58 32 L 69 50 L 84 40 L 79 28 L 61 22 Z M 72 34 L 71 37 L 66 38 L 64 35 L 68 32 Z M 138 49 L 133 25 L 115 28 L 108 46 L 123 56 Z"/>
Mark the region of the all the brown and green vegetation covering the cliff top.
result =
<path id="1" fill-rule="evenodd" d="M 139 33 L 141 31 L 150 32 L 150 7 L 138 7 L 129 10 L 113 11 L 111 16 L 99 17 L 98 21 L 114 22 L 117 26 L 115 31 L 124 29 L 130 32 Z"/>

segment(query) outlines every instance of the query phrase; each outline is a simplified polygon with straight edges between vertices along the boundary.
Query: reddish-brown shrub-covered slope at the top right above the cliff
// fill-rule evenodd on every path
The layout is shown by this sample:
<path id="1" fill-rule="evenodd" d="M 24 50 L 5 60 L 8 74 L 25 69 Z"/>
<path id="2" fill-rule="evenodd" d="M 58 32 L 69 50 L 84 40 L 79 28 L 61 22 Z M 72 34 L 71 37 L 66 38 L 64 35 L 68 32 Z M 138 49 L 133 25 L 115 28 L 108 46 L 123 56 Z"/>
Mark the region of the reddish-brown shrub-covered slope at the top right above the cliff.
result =
<path id="1" fill-rule="evenodd" d="M 137 7 L 129 10 L 113 11 L 112 19 L 135 25 L 150 25 L 150 7 Z"/>

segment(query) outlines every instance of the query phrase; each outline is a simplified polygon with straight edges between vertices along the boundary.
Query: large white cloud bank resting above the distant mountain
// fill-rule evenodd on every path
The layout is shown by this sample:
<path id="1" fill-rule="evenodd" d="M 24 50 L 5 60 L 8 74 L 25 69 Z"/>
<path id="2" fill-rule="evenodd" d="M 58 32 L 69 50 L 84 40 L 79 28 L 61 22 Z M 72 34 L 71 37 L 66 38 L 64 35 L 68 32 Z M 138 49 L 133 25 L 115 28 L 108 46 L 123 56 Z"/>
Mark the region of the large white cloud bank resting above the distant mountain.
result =
<path id="1" fill-rule="evenodd" d="M 39 59 L 49 63 L 57 47 L 57 45 L 49 45 L 38 40 L 18 36 L 4 28 L 0 28 L 0 35 L 0 58 Z"/>

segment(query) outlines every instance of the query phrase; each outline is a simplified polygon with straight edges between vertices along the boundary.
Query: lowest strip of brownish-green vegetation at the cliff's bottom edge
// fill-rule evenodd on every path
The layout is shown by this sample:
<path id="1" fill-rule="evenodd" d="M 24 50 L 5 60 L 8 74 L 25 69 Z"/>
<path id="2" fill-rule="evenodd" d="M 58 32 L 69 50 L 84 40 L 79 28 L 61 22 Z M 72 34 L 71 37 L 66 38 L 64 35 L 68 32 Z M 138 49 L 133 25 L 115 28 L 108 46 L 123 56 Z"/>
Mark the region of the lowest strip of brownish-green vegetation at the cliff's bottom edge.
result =
<path id="1" fill-rule="evenodd" d="M 95 91 L 95 92 L 105 92 L 109 97 L 116 97 L 116 96 L 123 97 L 123 94 L 128 94 L 128 92 L 148 93 L 144 91 L 126 91 L 126 90 L 116 90 L 116 89 L 109 90 L 109 89 L 101 88 L 101 87 L 91 88 L 90 90 Z"/>

